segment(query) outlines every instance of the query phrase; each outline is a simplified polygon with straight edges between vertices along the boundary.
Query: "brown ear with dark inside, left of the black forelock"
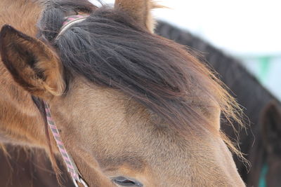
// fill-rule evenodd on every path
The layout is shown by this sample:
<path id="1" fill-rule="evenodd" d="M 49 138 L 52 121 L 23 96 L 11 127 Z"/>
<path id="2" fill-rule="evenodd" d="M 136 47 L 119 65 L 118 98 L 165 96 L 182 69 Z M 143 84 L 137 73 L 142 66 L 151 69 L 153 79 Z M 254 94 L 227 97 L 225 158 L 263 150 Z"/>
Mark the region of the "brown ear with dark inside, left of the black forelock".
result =
<path id="1" fill-rule="evenodd" d="M 32 95 L 60 95 L 65 87 L 60 60 L 43 42 L 5 25 L 0 32 L 0 53 L 15 82 Z"/>

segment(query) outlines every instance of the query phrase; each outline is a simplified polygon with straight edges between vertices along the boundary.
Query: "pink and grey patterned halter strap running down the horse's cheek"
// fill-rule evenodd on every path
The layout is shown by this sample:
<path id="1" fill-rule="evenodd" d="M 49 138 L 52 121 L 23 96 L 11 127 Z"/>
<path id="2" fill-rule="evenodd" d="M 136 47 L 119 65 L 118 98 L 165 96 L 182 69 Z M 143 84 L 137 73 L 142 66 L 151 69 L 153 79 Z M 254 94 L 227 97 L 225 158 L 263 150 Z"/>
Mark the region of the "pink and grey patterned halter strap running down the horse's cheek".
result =
<path id="1" fill-rule="evenodd" d="M 48 127 L 50 127 L 53 137 L 55 138 L 55 142 L 58 146 L 58 150 L 60 151 L 60 154 L 63 157 L 63 160 L 67 167 L 67 171 L 70 172 L 74 186 L 78 187 L 77 182 L 79 182 L 79 183 L 83 184 L 84 187 L 88 187 L 87 183 L 84 181 L 83 177 L 79 173 L 79 170 L 78 170 L 74 160 L 66 151 L 63 141 L 60 138 L 60 132 L 58 132 L 58 127 L 55 125 L 53 118 L 51 117 L 50 106 L 46 102 L 44 102 L 44 105 L 45 105 Z"/>

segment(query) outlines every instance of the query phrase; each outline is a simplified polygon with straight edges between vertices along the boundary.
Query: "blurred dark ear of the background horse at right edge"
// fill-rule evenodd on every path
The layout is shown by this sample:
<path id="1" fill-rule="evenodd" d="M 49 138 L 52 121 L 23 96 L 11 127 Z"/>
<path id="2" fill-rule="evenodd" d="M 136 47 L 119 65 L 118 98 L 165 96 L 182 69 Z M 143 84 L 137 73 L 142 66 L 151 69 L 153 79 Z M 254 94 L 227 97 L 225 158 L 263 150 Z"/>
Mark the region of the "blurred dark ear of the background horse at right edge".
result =
<path id="1" fill-rule="evenodd" d="M 281 111 L 275 102 L 270 102 L 261 116 L 263 142 L 270 153 L 281 148 Z"/>

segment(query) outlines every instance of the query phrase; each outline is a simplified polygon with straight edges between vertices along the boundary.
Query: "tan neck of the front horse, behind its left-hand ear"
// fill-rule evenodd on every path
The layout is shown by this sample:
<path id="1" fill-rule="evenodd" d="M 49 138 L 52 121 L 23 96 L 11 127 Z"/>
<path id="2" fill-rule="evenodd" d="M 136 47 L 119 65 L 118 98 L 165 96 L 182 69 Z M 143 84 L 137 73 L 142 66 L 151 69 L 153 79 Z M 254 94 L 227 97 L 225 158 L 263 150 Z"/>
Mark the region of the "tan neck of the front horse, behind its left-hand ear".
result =
<path id="1" fill-rule="evenodd" d="M 1 0 L 0 7 L 5 7 L 0 8 L 0 28 L 8 24 L 36 35 L 35 25 L 40 14 L 37 2 Z M 0 62 L 0 88 L 0 141 L 43 146 L 46 142 L 44 121 L 31 95 L 13 81 L 3 62 Z"/>

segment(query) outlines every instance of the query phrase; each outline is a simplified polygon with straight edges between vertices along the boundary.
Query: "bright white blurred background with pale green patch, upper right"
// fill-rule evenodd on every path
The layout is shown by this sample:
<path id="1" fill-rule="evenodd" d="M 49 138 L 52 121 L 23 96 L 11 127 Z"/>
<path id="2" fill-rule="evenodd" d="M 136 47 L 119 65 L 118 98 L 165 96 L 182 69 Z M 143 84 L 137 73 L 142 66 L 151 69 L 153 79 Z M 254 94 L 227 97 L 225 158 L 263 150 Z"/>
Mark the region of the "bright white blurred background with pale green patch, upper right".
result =
<path id="1" fill-rule="evenodd" d="M 93 0 L 94 1 L 94 0 Z M 114 0 L 103 0 L 113 4 Z M 153 13 L 242 60 L 281 100 L 281 11 L 278 0 L 159 0 Z"/>

